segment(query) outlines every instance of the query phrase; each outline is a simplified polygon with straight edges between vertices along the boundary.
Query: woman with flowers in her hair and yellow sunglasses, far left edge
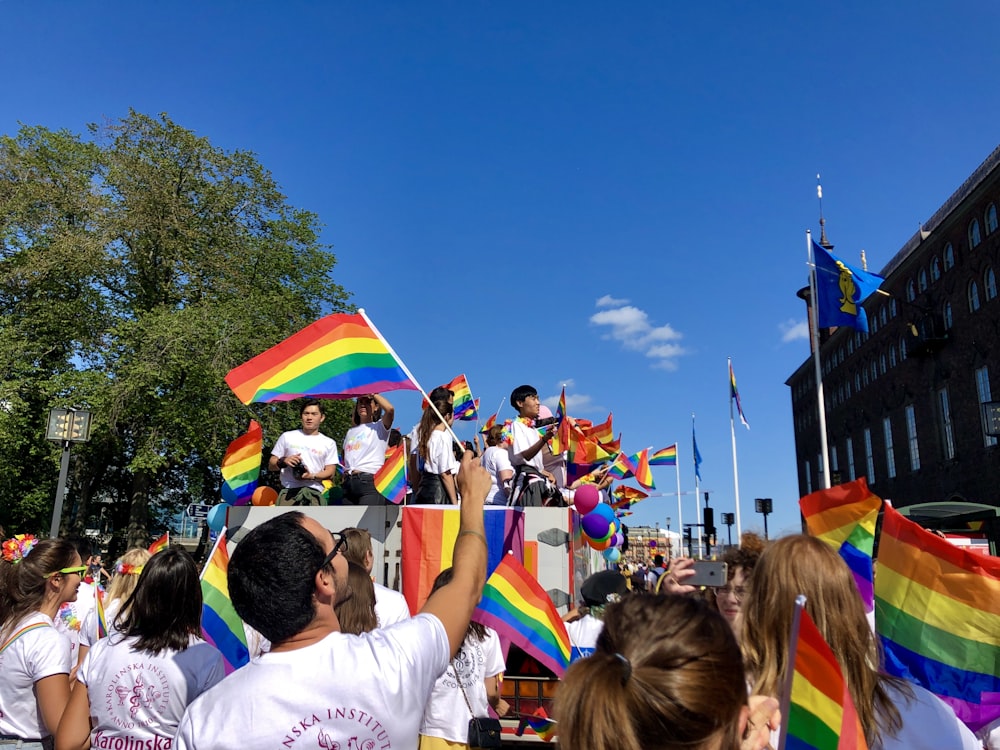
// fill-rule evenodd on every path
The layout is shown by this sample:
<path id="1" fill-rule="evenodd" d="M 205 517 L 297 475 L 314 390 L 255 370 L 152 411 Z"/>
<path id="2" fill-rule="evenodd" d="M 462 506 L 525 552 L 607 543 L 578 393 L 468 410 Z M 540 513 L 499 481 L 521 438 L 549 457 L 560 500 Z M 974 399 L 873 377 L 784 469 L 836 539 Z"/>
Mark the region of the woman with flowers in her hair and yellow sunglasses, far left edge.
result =
<path id="1" fill-rule="evenodd" d="M 69 700 L 70 642 L 53 625 L 76 598 L 87 566 L 64 539 L 18 534 L 0 559 L 0 737 L 28 750 L 51 747 Z"/>

